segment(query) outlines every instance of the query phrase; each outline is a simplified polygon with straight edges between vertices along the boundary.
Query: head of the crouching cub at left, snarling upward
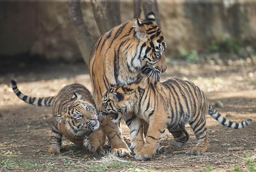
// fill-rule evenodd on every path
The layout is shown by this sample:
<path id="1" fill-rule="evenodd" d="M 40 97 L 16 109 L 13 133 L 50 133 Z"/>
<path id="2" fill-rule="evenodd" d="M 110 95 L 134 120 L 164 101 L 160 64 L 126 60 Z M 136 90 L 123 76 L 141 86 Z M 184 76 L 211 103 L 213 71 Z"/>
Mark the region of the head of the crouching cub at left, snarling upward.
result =
<path id="1" fill-rule="evenodd" d="M 99 128 L 100 122 L 96 113 L 96 108 L 81 99 L 82 95 L 73 93 L 71 104 L 69 104 L 61 114 L 55 118 L 59 123 L 64 123 L 65 128 L 74 134 L 81 134 L 85 130 L 95 131 Z"/>

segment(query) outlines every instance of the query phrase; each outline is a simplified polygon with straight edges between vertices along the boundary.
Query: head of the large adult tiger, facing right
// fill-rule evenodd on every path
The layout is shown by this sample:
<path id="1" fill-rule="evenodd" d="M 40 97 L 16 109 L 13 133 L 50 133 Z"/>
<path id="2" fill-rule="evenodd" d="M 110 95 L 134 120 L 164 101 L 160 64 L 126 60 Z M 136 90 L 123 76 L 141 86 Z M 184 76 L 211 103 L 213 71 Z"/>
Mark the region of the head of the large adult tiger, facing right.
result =
<path id="1" fill-rule="evenodd" d="M 144 75 L 152 70 L 158 74 L 165 72 L 167 66 L 164 52 L 167 45 L 160 28 L 156 24 L 154 12 L 149 12 L 145 20 L 135 19 L 133 28 L 135 28 L 134 35 L 140 40 L 141 47 L 137 47 L 137 49 L 140 49 L 139 59 L 132 59 L 132 63 L 138 63 Z"/>

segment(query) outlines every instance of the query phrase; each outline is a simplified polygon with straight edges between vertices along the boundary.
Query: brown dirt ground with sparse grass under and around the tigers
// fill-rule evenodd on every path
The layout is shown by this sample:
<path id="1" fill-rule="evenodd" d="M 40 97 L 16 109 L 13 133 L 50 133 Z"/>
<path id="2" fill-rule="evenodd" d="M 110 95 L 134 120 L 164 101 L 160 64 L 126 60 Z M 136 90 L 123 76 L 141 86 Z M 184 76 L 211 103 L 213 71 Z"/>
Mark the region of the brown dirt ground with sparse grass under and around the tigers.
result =
<path id="1" fill-rule="evenodd" d="M 185 150 L 196 145 L 195 135 L 188 126 L 190 139 L 185 146 L 172 154 L 156 154 L 150 161 L 137 162 L 132 157 L 125 157 L 122 158 L 124 162 L 102 164 L 97 162 L 100 156 L 86 154 L 66 138 L 62 141 L 62 156 L 48 157 L 45 153 L 50 143 L 51 108 L 34 107 L 18 99 L 12 92 L 10 79 L 16 79 L 23 93 L 43 97 L 55 95 L 63 86 L 75 82 L 91 91 L 90 77 L 82 63 L 22 64 L 0 74 L 0 171 L 248 170 L 250 166 L 240 157 L 253 159 L 256 156 L 256 65 L 249 59 L 233 61 L 229 65 L 174 62 L 168 62 L 171 74 L 165 72 L 162 81 L 174 76 L 192 81 L 213 104 L 217 102 L 216 108 L 223 116 L 234 122 L 245 119 L 253 119 L 253 122 L 236 130 L 207 116 L 210 144 L 204 156 L 185 154 Z M 129 128 L 122 123 L 122 129 L 129 145 Z M 172 135 L 165 131 L 161 145 L 167 145 L 172 139 Z M 104 149 L 110 149 L 107 143 Z"/>

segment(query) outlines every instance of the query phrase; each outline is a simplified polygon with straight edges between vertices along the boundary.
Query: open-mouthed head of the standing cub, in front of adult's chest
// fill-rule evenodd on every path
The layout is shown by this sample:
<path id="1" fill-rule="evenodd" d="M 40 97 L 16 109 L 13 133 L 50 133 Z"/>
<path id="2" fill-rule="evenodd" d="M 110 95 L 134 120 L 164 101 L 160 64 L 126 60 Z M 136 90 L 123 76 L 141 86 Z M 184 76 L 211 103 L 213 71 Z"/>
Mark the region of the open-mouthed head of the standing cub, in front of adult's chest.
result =
<path id="1" fill-rule="evenodd" d="M 111 87 L 102 98 L 100 115 L 111 114 L 111 121 L 117 123 L 122 114 L 133 112 L 136 100 L 136 90 L 125 86 Z"/>

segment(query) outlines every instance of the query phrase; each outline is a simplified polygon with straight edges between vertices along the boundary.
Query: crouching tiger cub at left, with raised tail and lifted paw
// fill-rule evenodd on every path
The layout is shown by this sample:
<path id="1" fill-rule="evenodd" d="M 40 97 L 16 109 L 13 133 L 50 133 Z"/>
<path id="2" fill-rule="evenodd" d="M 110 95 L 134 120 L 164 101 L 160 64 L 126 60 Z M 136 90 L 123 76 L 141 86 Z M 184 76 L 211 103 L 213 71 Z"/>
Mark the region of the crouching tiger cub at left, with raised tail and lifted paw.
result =
<path id="1" fill-rule="evenodd" d="M 93 154 L 105 153 L 101 147 L 105 132 L 98 120 L 92 94 L 86 87 L 71 84 L 63 87 L 55 96 L 36 98 L 21 93 L 14 80 L 11 80 L 11 86 L 13 92 L 26 103 L 40 107 L 52 106 L 54 119 L 48 155 L 60 154 L 62 135 Z"/>

